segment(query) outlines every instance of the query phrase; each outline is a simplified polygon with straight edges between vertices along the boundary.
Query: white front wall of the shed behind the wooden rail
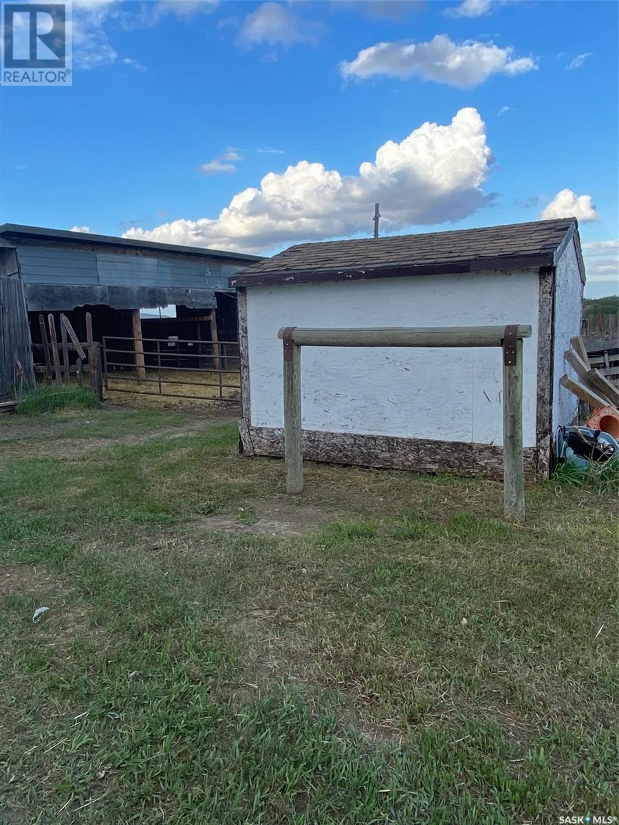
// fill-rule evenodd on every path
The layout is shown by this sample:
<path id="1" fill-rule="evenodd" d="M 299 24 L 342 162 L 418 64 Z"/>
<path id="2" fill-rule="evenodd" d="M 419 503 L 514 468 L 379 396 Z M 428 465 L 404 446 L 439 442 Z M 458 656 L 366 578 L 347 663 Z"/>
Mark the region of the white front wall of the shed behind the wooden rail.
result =
<path id="1" fill-rule="evenodd" d="M 281 341 L 299 327 L 530 323 L 524 342 L 524 446 L 536 446 L 537 271 L 480 271 L 248 287 L 251 425 L 282 427 Z M 312 431 L 503 442 L 499 349 L 302 351 L 303 427 Z"/>

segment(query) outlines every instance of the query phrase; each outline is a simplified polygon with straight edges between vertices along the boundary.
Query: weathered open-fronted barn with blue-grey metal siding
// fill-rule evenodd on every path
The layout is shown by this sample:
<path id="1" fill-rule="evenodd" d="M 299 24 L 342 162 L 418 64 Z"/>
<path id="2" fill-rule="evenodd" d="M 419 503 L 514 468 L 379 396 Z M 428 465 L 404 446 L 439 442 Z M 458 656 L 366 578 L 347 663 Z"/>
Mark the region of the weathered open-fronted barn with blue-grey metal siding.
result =
<path id="1" fill-rule="evenodd" d="M 39 313 L 64 313 L 85 340 L 89 311 L 94 337 L 101 341 L 103 336 L 141 337 L 139 310 L 173 304 L 177 318 L 144 321 L 144 337 L 236 340 L 236 299 L 229 276 L 260 260 L 214 249 L 2 224 L 0 396 L 12 394 L 16 355 L 31 374 L 29 338 L 40 343 Z"/>

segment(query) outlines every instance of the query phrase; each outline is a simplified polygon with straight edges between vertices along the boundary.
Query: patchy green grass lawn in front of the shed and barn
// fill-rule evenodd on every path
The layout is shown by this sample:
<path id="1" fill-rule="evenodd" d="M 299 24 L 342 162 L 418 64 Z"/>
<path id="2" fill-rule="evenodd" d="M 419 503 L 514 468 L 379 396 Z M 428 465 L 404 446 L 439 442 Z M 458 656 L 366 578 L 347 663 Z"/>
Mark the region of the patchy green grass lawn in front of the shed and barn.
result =
<path id="1" fill-rule="evenodd" d="M 0 823 L 617 815 L 614 496 L 0 420 Z M 32 621 L 36 607 L 50 609 Z"/>

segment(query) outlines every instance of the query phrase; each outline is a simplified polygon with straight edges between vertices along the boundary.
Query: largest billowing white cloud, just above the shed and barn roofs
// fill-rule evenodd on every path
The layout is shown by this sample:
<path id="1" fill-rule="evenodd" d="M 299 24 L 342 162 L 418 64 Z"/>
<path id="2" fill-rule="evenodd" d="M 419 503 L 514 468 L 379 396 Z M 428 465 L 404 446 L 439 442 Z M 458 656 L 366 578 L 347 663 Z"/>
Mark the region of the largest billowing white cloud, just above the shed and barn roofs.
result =
<path id="1" fill-rule="evenodd" d="M 377 200 L 384 232 L 456 221 L 493 199 L 481 188 L 490 163 L 484 121 L 475 109 L 461 109 L 449 125 L 424 123 L 400 143 L 388 140 L 356 175 L 301 160 L 239 192 L 214 219 L 129 229 L 125 237 L 261 252 L 281 243 L 367 235 Z"/>

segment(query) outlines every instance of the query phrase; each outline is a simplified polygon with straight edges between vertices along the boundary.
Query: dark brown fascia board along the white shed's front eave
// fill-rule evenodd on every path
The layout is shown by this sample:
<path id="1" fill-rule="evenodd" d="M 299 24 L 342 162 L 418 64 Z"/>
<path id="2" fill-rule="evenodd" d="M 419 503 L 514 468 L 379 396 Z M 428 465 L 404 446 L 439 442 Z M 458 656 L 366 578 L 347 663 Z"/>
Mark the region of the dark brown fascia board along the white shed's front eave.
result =
<path id="1" fill-rule="evenodd" d="M 364 269 L 272 271 L 257 275 L 234 275 L 229 286 L 272 286 L 276 284 L 309 284 L 319 281 L 361 281 L 376 278 L 406 278 L 420 275 L 458 275 L 484 269 L 527 269 L 555 266 L 552 252 L 544 254 L 471 258 L 454 263 L 440 262 L 421 266 L 367 266 Z"/>

